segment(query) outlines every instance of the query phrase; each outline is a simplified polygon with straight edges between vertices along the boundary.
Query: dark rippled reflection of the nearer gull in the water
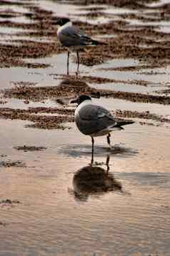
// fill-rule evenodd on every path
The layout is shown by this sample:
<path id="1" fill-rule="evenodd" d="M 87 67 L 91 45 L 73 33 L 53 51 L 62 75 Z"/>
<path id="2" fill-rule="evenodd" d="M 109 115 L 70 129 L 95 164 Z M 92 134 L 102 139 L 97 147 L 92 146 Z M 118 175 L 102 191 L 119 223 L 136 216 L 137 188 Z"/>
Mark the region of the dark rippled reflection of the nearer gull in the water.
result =
<path id="1" fill-rule="evenodd" d="M 74 174 L 74 198 L 86 202 L 89 196 L 100 196 L 109 191 L 121 191 L 121 183 L 116 181 L 114 174 L 109 172 L 109 156 L 106 157 L 106 169 L 101 168 L 102 163 L 94 163 L 93 155 L 91 164 L 84 166 Z"/>

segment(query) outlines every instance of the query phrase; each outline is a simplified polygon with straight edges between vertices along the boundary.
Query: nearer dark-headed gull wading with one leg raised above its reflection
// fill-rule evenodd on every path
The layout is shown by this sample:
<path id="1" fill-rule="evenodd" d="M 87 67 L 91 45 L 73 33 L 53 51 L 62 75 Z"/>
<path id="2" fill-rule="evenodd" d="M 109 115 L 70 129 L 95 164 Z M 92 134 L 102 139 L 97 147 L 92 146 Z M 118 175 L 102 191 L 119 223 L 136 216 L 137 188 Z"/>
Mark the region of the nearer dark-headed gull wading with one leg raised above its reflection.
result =
<path id="1" fill-rule="evenodd" d="M 70 103 L 77 103 L 78 106 L 74 113 L 74 120 L 77 128 L 84 135 L 91 136 L 92 153 L 94 153 L 94 137 L 106 136 L 107 143 L 111 148 L 111 132 L 123 130 L 121 126 L 134 123 L 134 121 L 114 119 L 109 110 L 92 103 L 89 95 L 80 95 L 71 100 Z"/>

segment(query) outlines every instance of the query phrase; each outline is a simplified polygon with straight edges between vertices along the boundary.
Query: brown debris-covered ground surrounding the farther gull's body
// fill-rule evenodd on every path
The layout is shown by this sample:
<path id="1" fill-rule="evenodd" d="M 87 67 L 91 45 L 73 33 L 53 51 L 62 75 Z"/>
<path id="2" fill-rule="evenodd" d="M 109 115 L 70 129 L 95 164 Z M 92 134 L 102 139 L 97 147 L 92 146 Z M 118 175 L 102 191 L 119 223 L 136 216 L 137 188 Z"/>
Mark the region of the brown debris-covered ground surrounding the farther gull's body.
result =
<path id="1" fill-rule="evenodd" d="M 76 1 L 75 1 L 76 2 Z M 169 64 L 169 53 L 170 53 L 170 35 L 164 32 L 156 31 L 155 27 L 152 26 L 131 26 L 126 19 L 138 19 L 142 22 L 158 21 L 158 20 L 169 20 L 169 4 L 163 6 L 147 7 L 146 4 L 152 1 L 95 1 L 95 4 L 111 4 L 119 7 L 126 7 L 129 9 L 151 9 L 156 12 L 153 18 L 150 14 L 139 16 L 138 14 L 117 14 L 118 18 L 116 21 L 109 22 L 106 24 L 88 24 L 86 22 L 75 22 L 80 29 L 83 29 L 87 34 L 113 34 L 114 39 L 104 39 L 106 45 L 99 45 L 95 49 L 89 49 L 86 52 L 82 52 L 80 59 L 84 65 L 96 65 L 106 60 L 113 58 L 129 58 L 133 57 L 137 60 L 146 62 L 146 65 L 150 67 L 162 67 Z M 6 2 L 4 1 L 4 4 Z M 11 3 L 11 2 L 10 2 Z M 74 4 L 74 1 L 71 1 Z M 94 3 L 89 1 L 88 4 Z M 12 3 L 11 3 L 12 4 Z M 31 22 L 19 23 L 10 22 L 4 19 L 0 22 L 0 26 L 14 27 L 28 29 L 27 32 L 17 32 L 16 35 L 29 37 L 29 39 L 18 39 L 12 40 L 13 44 L 0 44 L 0 67 L 11 67 L 11 66 L 25 66 L 25 67 L 48 67 L 41 63 L 29 63 L 23 61 L 24 58 L 37 58 L 46 57 L 54 53 L 64 52 L 66 49 L 61 47 L 58 40 L 56 39 L 56 28 L 52 25 L 54 20 L 54 14 L 52 11 L 46 11 L 39 6 L 35 6 L 30 1 L 28 4 L 21 3 L 28 12 L 22 14 L 30 19 Z M 79 1 L 80 4 L 80 1 Z M 94 11 L 92 11 L 93 13 Z M 21 15 L 21 13 L 15 13 L 6 11 L 0 13 L 0 17 L 5 15 Z M 101 15 L 101 14 L 100 14 Z M 153 20 L 154 19 L 154 20 Z M 159 27 L 158 27 L 159 28 Z M 34 30 L 34 32 L 32 31 Z M 46 38 L 48 41 L 36 42 L 34 37 Z M 30 39 L 32 37 L 32 39 Z M 147 47 L 149 46 L 149 47 Z"/>

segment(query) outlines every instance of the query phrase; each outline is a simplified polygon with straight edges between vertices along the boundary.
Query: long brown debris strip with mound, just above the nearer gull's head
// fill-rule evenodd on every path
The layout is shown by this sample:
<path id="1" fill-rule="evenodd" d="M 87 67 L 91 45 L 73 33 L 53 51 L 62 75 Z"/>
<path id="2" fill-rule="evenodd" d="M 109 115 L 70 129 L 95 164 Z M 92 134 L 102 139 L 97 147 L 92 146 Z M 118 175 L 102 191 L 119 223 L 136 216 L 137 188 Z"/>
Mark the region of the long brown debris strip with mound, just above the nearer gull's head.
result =
<path id="1" fill-rule="evenodd" d="M 69 78 L 63 80 L 58 86 L 47 87 L 28 87 L 28 86 L 16 86 L 8 90 L 4 90 L 4 98 L 17 98 L 22 100 L 41 101 L 48 98 L 74 98 L 80 94 L 88 94 L 99 92 L 102 97 L 105 98 L 119 98 L 123 100 L 129 100 L 131 102 L 142 103 L 158 103 L 163 105 L 170 104 L 170 97 L 166 95 L 149 95 L 142 93 L 130 93 L 114 90 L 96 90 L 93 87 L 89 87 L 83 80 L 88 79 L 82 77 L 79 79 Z M 92 81 L 96 81 L 92 78 Z M 130 83 L 133 83 L 130 82 Z M 141 81 L 141 85 L 146 85 L 146 82 Z"/>

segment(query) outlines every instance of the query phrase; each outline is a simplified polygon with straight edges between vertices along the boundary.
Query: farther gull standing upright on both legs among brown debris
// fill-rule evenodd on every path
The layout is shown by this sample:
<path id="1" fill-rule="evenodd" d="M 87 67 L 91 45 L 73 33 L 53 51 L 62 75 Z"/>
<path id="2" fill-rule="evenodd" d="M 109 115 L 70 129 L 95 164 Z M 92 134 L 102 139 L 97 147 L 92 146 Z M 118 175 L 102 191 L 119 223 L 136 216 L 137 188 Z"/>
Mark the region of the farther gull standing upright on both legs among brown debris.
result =
<path id="1" fill-rule="evenodd" d="M 87 36 L 81 30 L 73 26 L 71 20 L 65 17 L 59 17 L 54 22 L 54 25 L 59 25 L 57 30 L 57 37 L 61 45 L 67 47 L 67 75 L 69 75 L 69 54 L 70 51 L 76 51 L 77 57 L 77 73 L 79 71 L 79 49 L 83 49 L 86 46 L 96 46 L 98 44 L 106 44 L 104 42 L 99 42 L 91 37 Z"/>

